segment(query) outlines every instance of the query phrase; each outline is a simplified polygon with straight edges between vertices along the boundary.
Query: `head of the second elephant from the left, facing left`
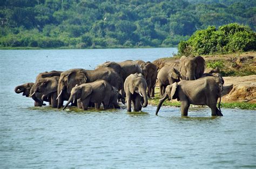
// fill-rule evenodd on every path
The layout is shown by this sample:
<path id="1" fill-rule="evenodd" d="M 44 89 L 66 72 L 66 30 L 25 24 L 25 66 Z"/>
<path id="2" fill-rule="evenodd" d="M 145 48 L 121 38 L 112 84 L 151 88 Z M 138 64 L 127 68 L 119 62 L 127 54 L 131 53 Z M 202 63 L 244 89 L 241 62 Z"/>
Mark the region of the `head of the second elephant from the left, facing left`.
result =
<path id="1" fill-rule="evenodd" d="M 33 90 L 35 92 L 42 93 L 43 95 L 48 95 L 50 93 L 57 91 L 58 81 L 59 81 L 59 76 L 53 76 L 51 78 L 39 79 L 35 83 L 35 88 Z"/>

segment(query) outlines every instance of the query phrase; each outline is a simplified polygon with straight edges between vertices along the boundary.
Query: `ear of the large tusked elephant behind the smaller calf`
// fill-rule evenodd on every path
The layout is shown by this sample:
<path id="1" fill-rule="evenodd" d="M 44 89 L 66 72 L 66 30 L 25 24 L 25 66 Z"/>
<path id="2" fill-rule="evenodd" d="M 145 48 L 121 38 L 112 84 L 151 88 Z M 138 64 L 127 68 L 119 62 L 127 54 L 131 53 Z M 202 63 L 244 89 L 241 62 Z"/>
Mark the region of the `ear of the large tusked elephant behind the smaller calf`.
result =
<path id="1" fill-rule="evenodd" d="M 68 86 L 67 90 L 68 93 L 71 93 L 71 90 L 76 85 L 81 85 L 83 83 L 86 83 L 87 81 L 87 73 L 84 69 L 78 69 L 75 71 L 72 71 L 68 74 Z"/>

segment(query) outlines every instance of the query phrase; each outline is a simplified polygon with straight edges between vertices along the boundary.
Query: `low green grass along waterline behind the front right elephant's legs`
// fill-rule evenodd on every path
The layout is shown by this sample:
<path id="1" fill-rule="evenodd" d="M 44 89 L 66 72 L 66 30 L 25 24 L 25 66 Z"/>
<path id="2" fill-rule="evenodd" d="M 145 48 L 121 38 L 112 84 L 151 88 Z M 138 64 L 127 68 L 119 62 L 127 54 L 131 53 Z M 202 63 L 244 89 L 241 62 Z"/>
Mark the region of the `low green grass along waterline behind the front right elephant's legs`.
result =
<path id="1" fill-rule="evenodd" d="M 159 96 L 159 88 L 156 87 L 156 94 L 154 98 L 149 98 L 149 104 L 151 105 L 158 105 L 160 100 Z M 192 106 L 191 104 L 190 106 Z M 180 102 L 177 100 L 168 101 L 165 100 L 162 106 L 170 106 L 170 107 L 180 107 Z M 200 105 L 199 105 L 200 106 Z M 256 110 L 256 104 L 255 103 L 247 103 L 247 102 L 221 102 L 220 108 L 232 108 L 232 109 L 250 109 L 250 110 Z"/>

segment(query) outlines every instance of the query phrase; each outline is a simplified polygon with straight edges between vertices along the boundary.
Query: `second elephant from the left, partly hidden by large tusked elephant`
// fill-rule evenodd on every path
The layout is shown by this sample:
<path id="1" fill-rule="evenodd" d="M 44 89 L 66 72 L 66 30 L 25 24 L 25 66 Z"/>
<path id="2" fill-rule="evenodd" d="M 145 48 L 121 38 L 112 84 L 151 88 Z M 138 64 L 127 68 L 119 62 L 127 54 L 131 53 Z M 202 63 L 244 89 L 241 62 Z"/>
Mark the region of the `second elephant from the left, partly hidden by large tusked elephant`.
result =
<path id="1" fill-rule="evenodd" d="M 41 93 L 43 95 L 42 100 L 44 100 L 44 97 L 50 97 L 52 108 L 57 108 L 58 101 L 56 100 L 56 98 L 58 91 L 58 81 L 59 76 L 38 79 L 34 85 L 35 87 L 33 88 L 33 91 L 31 92 Z M 69 99 L 68 96 L 66 96 L 65 98 L 66 100 Z"/>

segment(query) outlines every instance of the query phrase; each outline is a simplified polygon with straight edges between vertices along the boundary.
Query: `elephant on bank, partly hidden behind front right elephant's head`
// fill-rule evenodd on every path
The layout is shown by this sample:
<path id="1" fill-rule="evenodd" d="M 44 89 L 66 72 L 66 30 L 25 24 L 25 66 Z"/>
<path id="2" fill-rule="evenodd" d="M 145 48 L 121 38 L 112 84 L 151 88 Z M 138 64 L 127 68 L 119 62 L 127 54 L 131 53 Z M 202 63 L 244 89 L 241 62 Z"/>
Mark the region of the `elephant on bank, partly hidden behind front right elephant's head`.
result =
<path id="1" fill-rule="evenodd" d="M 160 96 L 163 97 L 165 88 L 168 85 L 172 85 L 174 82 L 179 82 L 182 79 L 180 72 L 172 66 L 164 66 L 160 69 L 157 75 Z"/>

